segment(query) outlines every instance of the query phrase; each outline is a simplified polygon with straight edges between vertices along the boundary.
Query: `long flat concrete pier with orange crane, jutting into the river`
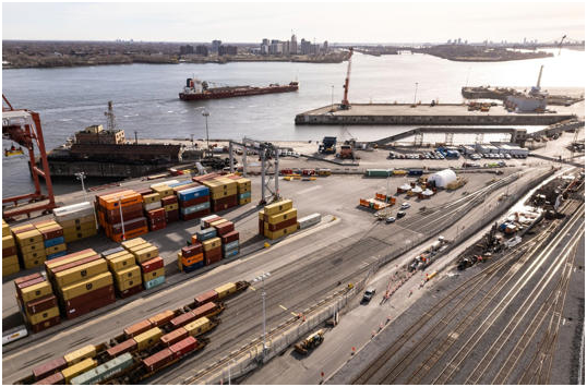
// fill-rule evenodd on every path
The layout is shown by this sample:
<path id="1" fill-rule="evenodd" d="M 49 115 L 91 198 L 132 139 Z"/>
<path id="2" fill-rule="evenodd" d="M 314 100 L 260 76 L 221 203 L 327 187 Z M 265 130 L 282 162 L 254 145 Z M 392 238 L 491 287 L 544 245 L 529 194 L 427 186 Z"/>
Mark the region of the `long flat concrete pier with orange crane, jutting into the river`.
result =
<path id="1" fill-rule="evenodd" d="M 468 111 L 466 105 L 354 104 L 348 110 L 331 111 L 332 106 L 296 116 L 302 125 L 550 125 L 576 118 L 572 113 L 515 113 L 502 106 L 488 112 Z"/>

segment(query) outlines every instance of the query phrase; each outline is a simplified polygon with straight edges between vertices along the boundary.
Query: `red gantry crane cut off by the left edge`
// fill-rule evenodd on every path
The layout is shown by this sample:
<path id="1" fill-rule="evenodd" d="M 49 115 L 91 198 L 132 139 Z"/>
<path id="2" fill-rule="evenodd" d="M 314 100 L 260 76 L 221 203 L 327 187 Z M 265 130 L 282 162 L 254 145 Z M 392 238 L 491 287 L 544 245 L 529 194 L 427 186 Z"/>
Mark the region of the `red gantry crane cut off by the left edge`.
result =
<path id="1" fill-rule="evenodd" d="M 56 207 L 56 204 L 39 114 L 27 109 L 14 109 L 3 94 L 2 99 L 5 104 L 5 107 L 2 105 L 2 138 L 11 140 L 28 150 L 28 165 L 35 184 L 35 192 L 2 198 L 2 204 L 13 203 L 14 205 L 12 208 L 2 208 L 2 218 L 9 221 L 23 214 L 26 214 L 28 218 L 35 211 L 49 214 Z M 35 145 L 40 153 L 41 168 L 37 167 L 35 160 Z M 47 194 L 44 194 L 40 190 L 39 177 L 45 179 Z M 28 204 L 22 203 L 19 205 L 19 202 L 23 201 L 28 201 Z"/>

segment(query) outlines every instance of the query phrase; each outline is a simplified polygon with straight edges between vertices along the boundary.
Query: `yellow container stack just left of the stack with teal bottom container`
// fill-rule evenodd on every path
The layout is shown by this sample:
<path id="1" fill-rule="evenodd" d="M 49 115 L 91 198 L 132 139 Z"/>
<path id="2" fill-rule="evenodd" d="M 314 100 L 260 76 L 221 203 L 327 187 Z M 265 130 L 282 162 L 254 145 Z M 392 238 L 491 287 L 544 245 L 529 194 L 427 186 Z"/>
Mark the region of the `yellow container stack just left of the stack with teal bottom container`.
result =
<path id="1" fill-rule="evenodd" d="M 125 299 L 143 291 L 141 267 L 133 254 L 124 247 L 116 247 L 101 253 L 115 277 L 115 289 L 119 298 Z"/>

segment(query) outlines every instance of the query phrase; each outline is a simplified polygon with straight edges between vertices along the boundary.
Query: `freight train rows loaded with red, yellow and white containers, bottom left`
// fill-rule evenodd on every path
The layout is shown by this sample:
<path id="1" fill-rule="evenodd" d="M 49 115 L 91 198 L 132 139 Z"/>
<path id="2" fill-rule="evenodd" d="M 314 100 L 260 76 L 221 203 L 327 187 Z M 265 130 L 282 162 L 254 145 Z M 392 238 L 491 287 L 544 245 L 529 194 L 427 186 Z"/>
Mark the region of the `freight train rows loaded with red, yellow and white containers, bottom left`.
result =
<path id="1" fill-rule="evenodd" d="M 97 346 L 86 346 L 33 368 L 21 385 L 137 384 L 203 349 L 202 335 L 220 324 L 221 301 L 244 291 L 247 281 L 229 282 L 193 302 L 133 324 Z"/>

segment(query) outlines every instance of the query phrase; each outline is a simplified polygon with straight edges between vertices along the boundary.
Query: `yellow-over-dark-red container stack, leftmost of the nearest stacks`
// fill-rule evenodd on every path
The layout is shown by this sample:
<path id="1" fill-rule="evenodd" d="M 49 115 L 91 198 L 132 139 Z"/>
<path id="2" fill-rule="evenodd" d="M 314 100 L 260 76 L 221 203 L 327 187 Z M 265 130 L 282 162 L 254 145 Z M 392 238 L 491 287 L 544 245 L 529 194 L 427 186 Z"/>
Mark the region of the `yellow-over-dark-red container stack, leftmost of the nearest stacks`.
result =
<path id="1" fill-rule="evenodd" d="M 16 301 L 26 324 L 35 334 L 61 323 L 51 283 L 40 274 L 14 280 Z"/>

